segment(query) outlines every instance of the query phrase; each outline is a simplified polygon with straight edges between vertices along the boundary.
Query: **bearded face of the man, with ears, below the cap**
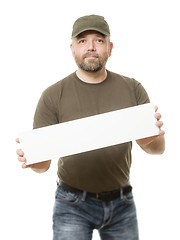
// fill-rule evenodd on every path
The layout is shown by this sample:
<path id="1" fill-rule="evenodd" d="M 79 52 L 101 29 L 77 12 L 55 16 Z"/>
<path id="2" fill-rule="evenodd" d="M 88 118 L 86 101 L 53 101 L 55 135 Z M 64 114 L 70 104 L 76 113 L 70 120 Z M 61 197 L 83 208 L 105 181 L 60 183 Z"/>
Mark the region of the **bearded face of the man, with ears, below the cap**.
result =
<path id="1" fill-rule="evenodd" d="M 86 72 L 98 72 L 111 55 L 109 38 L 96 31 L 85 31 L 73 39 L 72 54 L 78 67 Z"/>

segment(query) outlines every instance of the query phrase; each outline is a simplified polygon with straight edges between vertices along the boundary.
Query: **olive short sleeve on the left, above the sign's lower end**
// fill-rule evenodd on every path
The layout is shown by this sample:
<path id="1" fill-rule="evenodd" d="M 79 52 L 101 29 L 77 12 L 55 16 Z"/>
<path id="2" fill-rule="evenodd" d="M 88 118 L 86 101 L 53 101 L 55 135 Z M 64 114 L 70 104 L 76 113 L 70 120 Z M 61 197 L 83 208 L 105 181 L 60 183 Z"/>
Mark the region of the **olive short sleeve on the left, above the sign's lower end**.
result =
<path id="1" fill-rule="evenodd" d="M 51 97 L 46 94 L 46 91 L 44 91 L 36 107 L 33 129 L 57 123 L 57 110 L 53 104 Z"/>

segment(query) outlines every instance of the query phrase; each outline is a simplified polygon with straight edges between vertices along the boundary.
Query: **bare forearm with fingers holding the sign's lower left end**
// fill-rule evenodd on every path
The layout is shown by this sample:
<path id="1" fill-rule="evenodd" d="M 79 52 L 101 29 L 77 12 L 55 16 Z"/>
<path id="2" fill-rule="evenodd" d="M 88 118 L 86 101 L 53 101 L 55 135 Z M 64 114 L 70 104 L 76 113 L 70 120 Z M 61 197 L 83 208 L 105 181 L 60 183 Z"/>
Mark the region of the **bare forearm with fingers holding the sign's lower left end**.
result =
<path id="1" fill-rule="evenodd" d="M 19 139 L 16 139 L 16 142 L 19 143 Z M 26 165 L 26 158 L 24 157 L 24 152 L 21 149 L 18 149 L 16 151 L 18 155 L 18 160 L 19 162 L 22 162 L 22 168 L 31 168 L 34 172 L 37 173 L 43 173 L 46 172 L 51 164 L 51 160 L 45 161 L 45 162 L 40 162 L 40 163 L 35 163 L 35 164 L 30 164 Z"/>

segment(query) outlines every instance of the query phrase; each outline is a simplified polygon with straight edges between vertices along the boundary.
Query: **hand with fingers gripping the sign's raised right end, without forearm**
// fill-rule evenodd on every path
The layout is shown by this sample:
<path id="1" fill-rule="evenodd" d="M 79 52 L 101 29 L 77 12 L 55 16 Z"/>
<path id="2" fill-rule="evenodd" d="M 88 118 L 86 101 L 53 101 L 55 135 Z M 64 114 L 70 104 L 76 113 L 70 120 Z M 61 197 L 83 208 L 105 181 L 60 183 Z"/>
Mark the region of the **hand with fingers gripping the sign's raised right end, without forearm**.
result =
<path id="1" fill-rule="evenodd" d="M 155 106 L 155 118 L 157 119 L 156 122 L 156 126 L 159 128 L 159 133 L 156 136 L 152 136 L 152 137 L 147 137 L 147 138 L 142 138 L 142 139 L 138 139 L 136 140 L 136 142 L 141 146 L 146 146 L 148 144 L 150 144 L 151 142 L 153 142 L 155 139 L 157 139 L 159 136 L 163 136 L 165 134 L 165 132 L 163 130 L 161 130 L 161 127 L 163 126 L 163 122 L 160 121 L 161 119 L 161 114 L 157 113 L 158 107 Z"/>

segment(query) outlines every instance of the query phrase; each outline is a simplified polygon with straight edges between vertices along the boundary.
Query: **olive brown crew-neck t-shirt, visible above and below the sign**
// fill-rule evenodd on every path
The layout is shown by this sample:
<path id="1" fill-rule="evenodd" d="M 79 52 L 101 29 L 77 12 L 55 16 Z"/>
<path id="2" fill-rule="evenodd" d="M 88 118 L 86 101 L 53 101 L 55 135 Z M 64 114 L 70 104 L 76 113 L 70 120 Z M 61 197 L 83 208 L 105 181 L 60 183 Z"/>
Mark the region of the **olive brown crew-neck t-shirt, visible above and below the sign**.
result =
<path id="1" fill-rule="evenodd" d="M 103 82 L 90 84 L 81 81 L 74 72 L 42 93 L 33 127 L 40 128 L 148 102 L 145 89 L 132 78 L 107 71 Z M 129 180 L 131 148 L 132 142 L 127 142 L 62 157 L 58 162 L 58 176 L 66 184 L 88 192 L 119 189 Z"/>

